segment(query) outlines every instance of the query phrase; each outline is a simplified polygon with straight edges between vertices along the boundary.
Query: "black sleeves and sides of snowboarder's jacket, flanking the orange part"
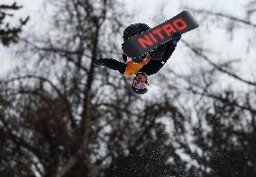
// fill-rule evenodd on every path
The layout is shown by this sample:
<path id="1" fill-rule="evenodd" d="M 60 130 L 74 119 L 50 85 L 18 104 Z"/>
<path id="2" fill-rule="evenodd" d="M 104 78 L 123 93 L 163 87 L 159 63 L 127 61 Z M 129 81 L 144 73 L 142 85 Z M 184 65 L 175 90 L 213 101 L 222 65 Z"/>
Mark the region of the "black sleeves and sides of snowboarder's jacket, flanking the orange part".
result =
<path id="1" fill-rule="evenodd" d="M 140 69 L 139 72 L 145 72 L 147 75 L 153 75 L 156 74 L 162 66 L 167 62 L 167 60 L 172 55 L 173 51 L 175 50 L 176 45 L 172 46 L 170 42 L 167 42 L 165 44 L 162 44 L 159 48 L 157 48 L 155 51 L 150 52 L 151 56 L 155 56 L 157 59 L 151 59 L 149 63 L 147 63 L 145 66 L 142 66 L 142 69 Z M 154 57 L 152 57 L 154 58 Z M 123 55 L 123 60 L 126 62 L 126 56 Z M 113 70 L 118 70 L 120 73 L 124 74 L 126 70 L 126 64 L 119 62 L 115 59 L 111 58 L 105 58 L 104 59 L 104 66 L 107 66 Z"/>

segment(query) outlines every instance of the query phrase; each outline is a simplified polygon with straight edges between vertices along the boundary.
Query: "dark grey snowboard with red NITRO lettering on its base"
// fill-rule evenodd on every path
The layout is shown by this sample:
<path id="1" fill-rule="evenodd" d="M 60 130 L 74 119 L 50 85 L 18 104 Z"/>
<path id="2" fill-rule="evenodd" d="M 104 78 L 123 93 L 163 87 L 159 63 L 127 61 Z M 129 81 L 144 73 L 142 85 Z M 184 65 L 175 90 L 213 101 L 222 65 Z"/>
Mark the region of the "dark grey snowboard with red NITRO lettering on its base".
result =
<path id="1" fill-rule="evenodd" d="M 171 40 L 175 32 L 182 34 L 192 31 L 198 26 L 192 15 L 187 11 L 183 11 L 151 30 L 144 31 L 125 40 L 122 44 L 123 53 L 130 58 L 140 58 L 145 53 Z"/>

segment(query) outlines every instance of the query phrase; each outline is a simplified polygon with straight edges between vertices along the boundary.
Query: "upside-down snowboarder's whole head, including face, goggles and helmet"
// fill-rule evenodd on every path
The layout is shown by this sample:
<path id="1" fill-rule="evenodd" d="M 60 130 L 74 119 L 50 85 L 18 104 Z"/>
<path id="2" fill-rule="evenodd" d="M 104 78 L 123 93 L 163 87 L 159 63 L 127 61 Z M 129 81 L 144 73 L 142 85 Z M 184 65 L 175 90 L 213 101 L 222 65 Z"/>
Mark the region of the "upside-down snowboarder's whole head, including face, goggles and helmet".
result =
<path id="1" fill-rule="evenodd" d="M 133 79 L 132 90 L 136 94 L 144 94 L 149 90 L 149 81 L 146 73 L 138 72 Z"/>

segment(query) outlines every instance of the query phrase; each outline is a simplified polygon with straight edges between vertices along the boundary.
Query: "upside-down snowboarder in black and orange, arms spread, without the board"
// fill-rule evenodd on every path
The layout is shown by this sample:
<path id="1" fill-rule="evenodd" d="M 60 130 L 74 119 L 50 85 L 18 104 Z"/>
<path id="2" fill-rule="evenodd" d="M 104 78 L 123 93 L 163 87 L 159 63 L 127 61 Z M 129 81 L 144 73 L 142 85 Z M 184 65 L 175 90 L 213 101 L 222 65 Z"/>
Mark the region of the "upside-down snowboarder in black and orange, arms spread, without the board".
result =
<path id="1" fill-rule="evenodd" d="M 150 29 L 151 28 L 144 23 L 131 24 L 123 31 L 123 41 Z M 96 66 L 106 66 L 113 70 L 118 70 L 125 76 L 135 75 L 132 90 L 134 93 L 144 94 L 149 90 L 149 80 L 147 76 L 156 74 L 160 68 L 164 66 L 175 50 L 180 38 L 181 34 L 176 32 L 172 40 L 161 44 L 158 48 L 153 49 L 140 58 L 128 58 L 123 54 L 124 63 L 112 58 L 93 58 L 93 60 Z"/>

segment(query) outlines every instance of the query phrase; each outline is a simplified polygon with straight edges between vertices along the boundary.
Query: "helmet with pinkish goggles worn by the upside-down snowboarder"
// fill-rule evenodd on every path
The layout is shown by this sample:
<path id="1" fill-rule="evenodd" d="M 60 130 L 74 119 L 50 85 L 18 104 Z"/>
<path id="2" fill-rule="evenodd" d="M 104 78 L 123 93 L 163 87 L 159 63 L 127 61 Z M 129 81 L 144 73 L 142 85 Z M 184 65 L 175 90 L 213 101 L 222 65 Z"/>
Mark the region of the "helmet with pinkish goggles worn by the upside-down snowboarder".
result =
<path id="1" fill-rule="evenodd" d="M 139 74 L 142 74 L 146 77 L 146 82 L 145 83 L 142 83 L 140 81 L 135 80 L 136 76 L 139 75 Z M 133 93 L 136 93 L 136 94 L 147 93 L 148 90 L 149 90 L 149 81 L 148 81 L 147 75 L 145 73 L 142 73 L 142 72 L 138 72 L 137 75 L 133 79 L 133 84 L 132 84 Z"/>

